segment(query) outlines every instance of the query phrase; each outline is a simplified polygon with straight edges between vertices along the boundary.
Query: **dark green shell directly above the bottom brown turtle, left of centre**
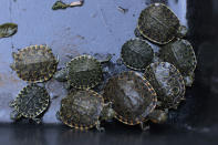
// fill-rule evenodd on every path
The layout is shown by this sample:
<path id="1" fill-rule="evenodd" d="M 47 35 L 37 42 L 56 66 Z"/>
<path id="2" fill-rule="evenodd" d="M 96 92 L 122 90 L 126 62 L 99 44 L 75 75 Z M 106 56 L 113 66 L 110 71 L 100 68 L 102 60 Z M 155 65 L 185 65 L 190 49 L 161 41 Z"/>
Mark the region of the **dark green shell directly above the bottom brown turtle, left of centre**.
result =
<path id="1" fill-rule="evenodd" d="M 91 89 L 103 80 L 101 63 L 91 55 L 80 55 L 66 64 L 68 82 L 76 89 Z"/>

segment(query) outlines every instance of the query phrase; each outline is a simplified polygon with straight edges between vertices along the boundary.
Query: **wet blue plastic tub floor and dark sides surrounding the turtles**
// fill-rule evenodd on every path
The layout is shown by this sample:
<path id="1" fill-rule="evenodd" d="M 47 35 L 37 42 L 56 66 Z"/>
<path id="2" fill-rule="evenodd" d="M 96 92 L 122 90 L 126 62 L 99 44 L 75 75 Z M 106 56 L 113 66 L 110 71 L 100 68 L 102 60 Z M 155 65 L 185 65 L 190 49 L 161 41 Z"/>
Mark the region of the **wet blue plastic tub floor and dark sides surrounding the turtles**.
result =
<path id="1" fill-rule="evenodd" d="M 70 0 L 68 0 L 70 2 Z M 195 144 L 214 143 L 218 133 L 218 2 L 216 0 L 168 0 L 166 2 L 188 27 L 187 40 L 195 48 L 198 66 L 196 81 L 186 93 L 186 102 L 172 111 L 166 125 L 152 125 L 142 133 L 138 126 L 103 124 L 106 132 L 75 132 L 60 124 L 55 112 L 66 91 L 54 80 L 46 83 L 51 105 L 43 124 L 11 124 L 9 101 L 25 83 L 10 69 L 11 52 L 30 44 L 48 44 L 60 56 L 62 68 L 68 55 L 114 53 L 134 38 L 141 10 L 160 0 L 86 0 L 83 7 L 51 10 L 53 1 L 1 0 L 0 22 L 18 23 L 18 33 L 0 39 L 0 141 L 8 144 Z M 167 0 L 164 0 L 167 1 Z M 117 7 L 128 9 L 126 13 Z M 187 8 L 187 9 L 186 9 Z M 122 69 L 121 69 L 122 70 Z M 185 139 L 186 138 L 186 139 Z M 194 142 L 195 141 L 195 142 Z"/>

